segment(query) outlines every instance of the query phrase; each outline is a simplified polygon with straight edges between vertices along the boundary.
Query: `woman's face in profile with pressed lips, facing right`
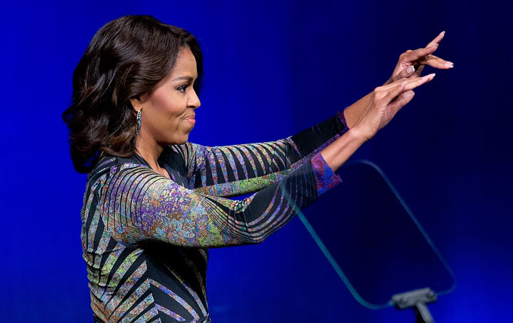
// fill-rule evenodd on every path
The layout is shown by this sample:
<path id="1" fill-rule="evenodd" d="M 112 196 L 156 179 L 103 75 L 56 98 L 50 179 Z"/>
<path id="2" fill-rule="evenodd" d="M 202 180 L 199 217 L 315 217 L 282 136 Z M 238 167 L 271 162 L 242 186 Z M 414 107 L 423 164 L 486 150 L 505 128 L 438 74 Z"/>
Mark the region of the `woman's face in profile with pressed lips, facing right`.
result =
<path id="1" fill-rule="evenodd" d="M 198 78 L 196 59 L 188 47 L 180 50 L 171 72 L 151 93 L 130 99 L 135 111 L 141 110 L 139 136 L 144 142 L 162 147 L 187 142 L 200 99 L 193 89 Z"/>

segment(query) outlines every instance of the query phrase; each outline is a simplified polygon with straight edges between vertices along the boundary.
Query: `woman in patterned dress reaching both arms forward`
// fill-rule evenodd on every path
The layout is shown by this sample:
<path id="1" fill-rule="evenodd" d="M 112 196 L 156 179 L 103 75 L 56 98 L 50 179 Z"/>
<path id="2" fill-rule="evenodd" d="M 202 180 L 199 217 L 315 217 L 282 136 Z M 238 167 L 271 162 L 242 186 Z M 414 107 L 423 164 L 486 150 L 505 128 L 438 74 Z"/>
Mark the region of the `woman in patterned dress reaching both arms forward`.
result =
<path id="1" fill-rule="evenodd" d="M 337 185 L 334 172 L 433 79 L 423 66 L 453 66 L 431 55 L 443 36 L 311 129 L 203 147 L 188 143 L 203 72 L 195 38 L 150 16 L 98 30 L 63 114 L 75 169 L 88 173 L 82 244 L 95 321 L 210 321 L 208 248 L 260 243 Z"/>

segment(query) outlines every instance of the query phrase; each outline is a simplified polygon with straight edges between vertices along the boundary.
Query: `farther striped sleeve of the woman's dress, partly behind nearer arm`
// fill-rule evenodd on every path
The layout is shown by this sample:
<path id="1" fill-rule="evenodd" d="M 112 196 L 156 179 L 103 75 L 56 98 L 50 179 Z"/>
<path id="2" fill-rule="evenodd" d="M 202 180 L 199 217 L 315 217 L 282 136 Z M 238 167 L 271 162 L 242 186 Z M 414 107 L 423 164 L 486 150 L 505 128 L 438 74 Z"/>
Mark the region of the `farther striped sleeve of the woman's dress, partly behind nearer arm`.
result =
<path id="1" fill-rule="evenodd" d="M 299 168 L 347 131 L 342 112 L 275 142 L 206 147 L 187 143 L 172 148 L 182 155 L 190 189 L 216 196 L 258 191 Z"/>

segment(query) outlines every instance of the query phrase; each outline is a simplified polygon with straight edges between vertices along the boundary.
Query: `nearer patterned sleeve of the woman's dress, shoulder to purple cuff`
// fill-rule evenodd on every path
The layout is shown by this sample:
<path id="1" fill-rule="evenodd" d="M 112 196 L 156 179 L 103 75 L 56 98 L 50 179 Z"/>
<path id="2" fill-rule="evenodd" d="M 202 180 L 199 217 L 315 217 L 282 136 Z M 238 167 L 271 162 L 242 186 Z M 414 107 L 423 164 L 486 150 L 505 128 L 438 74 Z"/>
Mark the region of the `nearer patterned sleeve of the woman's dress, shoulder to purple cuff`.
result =
<path id="1" fill-rule="evenodd" d="M 207 196 L 151 169 L 111 169 L 97 212 L 112 236 L 125 243 L 161 240 L 176 246 L 220 247 L 260 243 L 340 183 L 320 154 L 290 175 L 243 200 Z"/>

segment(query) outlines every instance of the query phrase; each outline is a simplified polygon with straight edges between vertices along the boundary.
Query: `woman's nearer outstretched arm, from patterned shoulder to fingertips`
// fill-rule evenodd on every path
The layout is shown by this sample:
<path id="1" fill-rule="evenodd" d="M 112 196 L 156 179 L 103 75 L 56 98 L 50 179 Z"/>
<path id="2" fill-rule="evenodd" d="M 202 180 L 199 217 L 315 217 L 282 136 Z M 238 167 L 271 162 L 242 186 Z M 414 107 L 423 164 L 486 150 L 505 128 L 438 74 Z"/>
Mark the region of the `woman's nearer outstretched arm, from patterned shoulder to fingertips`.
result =
<path id="1" fill-rule="evenodd" d="M 98 166 L 104 169 L 100 178 L 90 179 L 94 188 L 88 189 L 85 205 L 95 203 L 96 220 L 101 217 L 116 240 L 129 244 L 152 239 L 188 247 L 259 243 L 285 225 L 295 210 L 340 183 L 333 172 L 390 122 L 413 98 L 413 89 L 434 76 L 374 89 L 354 127 L 294 172 L 243 200 L 200 194 L 148 167 L 117 165 L 112 158 Z"/>

